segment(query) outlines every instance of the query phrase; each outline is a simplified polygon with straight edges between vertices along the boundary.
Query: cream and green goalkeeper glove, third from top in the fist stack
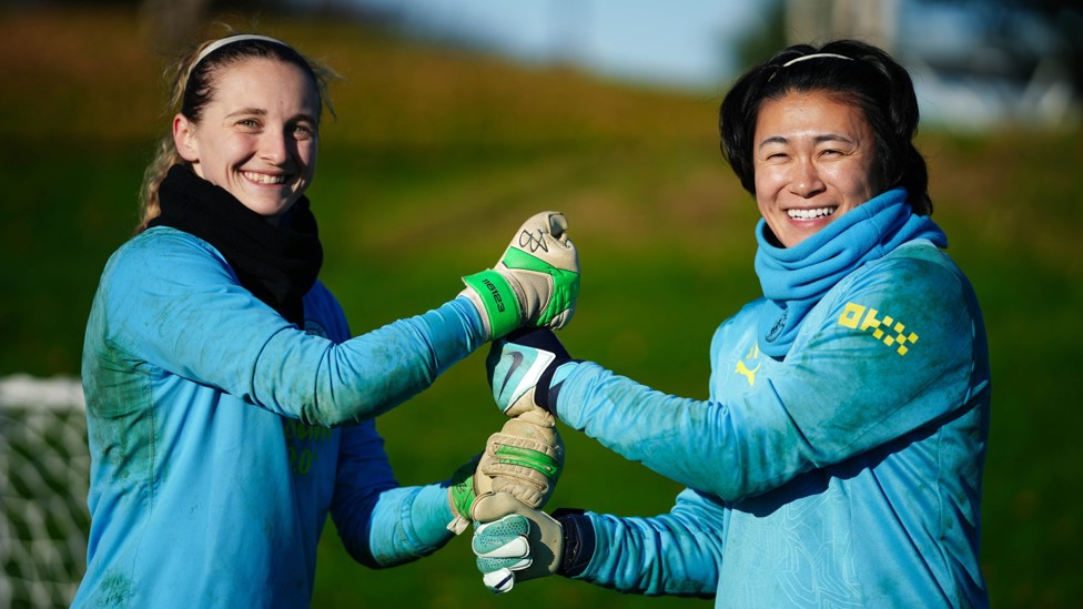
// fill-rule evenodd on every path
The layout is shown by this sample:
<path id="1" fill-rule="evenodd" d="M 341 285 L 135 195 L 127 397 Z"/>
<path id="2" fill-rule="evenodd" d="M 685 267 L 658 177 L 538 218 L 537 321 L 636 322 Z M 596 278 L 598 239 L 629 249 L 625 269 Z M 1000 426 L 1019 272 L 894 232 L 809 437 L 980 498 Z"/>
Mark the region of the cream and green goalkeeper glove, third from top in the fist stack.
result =
<path id="1" fill-rule="evenodd" d="M 456 535 L 475 520 L 478 501 L 495 493 L 509 494 L 539 508 L 556 490 L 564 469 L 564 440 L 553 415 L 535 408 L 504 424 L 489 436 L 485 451 L 460 467 L 448 487 Z"/>

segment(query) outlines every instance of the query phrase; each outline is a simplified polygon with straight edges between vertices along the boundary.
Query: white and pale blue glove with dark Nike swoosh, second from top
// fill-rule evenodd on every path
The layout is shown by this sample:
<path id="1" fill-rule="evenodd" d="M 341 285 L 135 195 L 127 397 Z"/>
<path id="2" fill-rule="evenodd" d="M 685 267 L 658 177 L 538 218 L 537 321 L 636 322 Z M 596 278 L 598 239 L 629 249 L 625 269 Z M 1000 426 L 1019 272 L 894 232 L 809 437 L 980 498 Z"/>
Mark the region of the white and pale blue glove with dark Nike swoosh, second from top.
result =
<path id="1" fill-rule="evenodd" d="M 575 363 L 548 328 L 524 328 L 493 342 L 485 359 L 489 387 L 500 412 L 509 417 L 532 408 L 556 413 L 560 383 Z"/>

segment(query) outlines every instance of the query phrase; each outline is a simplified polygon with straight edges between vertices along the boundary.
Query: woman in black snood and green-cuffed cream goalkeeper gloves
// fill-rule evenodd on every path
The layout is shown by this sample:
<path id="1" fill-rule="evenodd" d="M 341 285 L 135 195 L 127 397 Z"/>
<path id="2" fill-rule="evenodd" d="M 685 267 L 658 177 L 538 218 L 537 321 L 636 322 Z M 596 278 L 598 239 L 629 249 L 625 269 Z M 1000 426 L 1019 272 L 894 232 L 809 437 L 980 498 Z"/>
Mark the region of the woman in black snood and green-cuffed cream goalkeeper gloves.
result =
<path id="1" fill-rule="evenodd" d="M 487 491 L 543 505 L 563 461 L 551 416 L 508 422 L 476 464 L 413 487 L 373 418 L 487 341 L 568 322 L 564 216 L 529 219 L 457 297 L 353 336 L 318 280 L 305 197 L 328 72 L 236 34 L 173 74 L 136 234 L 87 324 L 91 525 L 73 605 L 307 607 L 328 516 L 351 556 L 383 568 L 443 547 Z M 495 457 L 507 450 L 512 467 Z"/>

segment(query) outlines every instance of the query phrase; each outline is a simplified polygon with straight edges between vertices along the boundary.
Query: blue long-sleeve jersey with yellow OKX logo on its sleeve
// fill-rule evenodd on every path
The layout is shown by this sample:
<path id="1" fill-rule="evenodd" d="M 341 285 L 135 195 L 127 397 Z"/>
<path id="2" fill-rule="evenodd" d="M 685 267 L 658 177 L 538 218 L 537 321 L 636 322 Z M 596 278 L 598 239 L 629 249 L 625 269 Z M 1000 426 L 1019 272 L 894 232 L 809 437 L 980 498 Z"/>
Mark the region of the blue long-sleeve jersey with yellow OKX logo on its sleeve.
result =
<path id="1" fill-rule="evenodd" d="M 588 512 L 581 579 L 718 607 L 983 607 L 988 346 L 962 272 L 927 241 L 868 263 L 759 352 L 745 306 L 716 331 L 707 402 L 591 363 L 559 418 L 687 485 L 668 514 Z"/>

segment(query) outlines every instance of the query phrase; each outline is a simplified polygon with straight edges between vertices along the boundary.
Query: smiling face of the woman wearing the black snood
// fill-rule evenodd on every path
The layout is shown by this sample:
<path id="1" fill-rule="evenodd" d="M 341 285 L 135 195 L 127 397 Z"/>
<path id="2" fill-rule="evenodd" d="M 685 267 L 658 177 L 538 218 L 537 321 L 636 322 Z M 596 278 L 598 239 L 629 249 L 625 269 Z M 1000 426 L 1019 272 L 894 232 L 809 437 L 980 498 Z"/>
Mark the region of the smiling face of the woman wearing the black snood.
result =
<path id="1" fill-rule="evenodd" d="M 173 141 L 196 175 L 277 223 L 316 169 L 320 97 L 298 67 L 246 59 L 224 67 L 196 124 L 173 119 Z"/>

